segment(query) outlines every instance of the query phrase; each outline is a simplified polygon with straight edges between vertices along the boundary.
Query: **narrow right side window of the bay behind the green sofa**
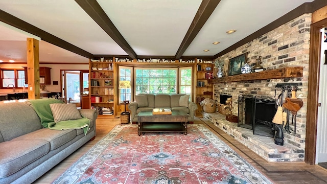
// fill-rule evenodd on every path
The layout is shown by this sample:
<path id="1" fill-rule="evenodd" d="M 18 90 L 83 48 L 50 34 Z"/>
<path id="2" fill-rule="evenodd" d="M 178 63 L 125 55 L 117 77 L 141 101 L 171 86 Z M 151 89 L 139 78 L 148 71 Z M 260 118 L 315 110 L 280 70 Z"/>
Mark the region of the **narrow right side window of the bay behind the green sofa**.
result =
<path id="1" fill-rule="evenodd" d="M 179 91 L 181 94 L 190 95 L 192 93 L 192 67 L 180 68 Z"/>

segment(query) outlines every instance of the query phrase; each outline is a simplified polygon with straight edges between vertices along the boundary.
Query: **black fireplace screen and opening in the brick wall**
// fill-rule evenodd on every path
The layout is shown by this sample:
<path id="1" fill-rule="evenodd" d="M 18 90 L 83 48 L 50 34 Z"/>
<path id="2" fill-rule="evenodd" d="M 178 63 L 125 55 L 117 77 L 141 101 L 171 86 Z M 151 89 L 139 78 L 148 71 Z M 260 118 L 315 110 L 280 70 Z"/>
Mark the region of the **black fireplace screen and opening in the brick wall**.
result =
<path id="1" fill-rule="evenodd" d="M 273 137 L 274 99 L 239 96 L 238 111 L 239 127 L 251 129 L 253 134 Z"/>

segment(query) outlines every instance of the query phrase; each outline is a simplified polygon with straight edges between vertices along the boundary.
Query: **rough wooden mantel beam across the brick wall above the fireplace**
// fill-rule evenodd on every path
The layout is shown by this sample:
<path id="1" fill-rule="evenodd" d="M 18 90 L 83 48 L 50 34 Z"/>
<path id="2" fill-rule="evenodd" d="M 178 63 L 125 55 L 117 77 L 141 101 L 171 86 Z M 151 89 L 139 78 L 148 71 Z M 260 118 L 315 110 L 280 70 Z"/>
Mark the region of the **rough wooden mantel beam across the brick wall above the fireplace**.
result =
<path id="1" fill-rule="evenodd" d="M 266 70 L 263 72 L 240 74 L 235 76 L 210 79 L 209 83 L 213 84 L 213 83 L 223 83 L 223 82 L 281 79 L 281 78 L 292 78 L 292 77 L 303 77 L 303 66 L 284 67 L 275 70 Z"/>

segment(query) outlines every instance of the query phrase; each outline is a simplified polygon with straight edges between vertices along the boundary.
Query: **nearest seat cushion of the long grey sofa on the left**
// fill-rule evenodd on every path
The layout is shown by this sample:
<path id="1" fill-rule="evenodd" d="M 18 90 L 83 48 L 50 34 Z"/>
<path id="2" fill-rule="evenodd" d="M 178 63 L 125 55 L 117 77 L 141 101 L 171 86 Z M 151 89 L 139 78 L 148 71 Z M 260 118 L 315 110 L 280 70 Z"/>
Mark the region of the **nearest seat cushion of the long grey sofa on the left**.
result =
<path id="1" fill-rule="evenodd" d="M 6 141 L 0 148 L 0 178 L 4 178 L 48 153 L 50 144 L 43 140 Z"/>

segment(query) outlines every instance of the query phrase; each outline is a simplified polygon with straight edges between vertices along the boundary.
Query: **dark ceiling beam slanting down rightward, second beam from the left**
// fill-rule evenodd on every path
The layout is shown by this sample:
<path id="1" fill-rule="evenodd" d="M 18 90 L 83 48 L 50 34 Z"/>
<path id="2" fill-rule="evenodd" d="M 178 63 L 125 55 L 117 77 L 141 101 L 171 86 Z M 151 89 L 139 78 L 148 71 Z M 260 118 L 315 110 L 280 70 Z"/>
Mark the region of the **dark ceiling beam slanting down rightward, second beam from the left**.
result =
<path id="1" fill-rule="evenodd" d="M 75 0 L 75 2 L 132 58 L 137 55 L 127 43 L 123 35 L 113 25 L 108 15 L 96 0 Z"/>

